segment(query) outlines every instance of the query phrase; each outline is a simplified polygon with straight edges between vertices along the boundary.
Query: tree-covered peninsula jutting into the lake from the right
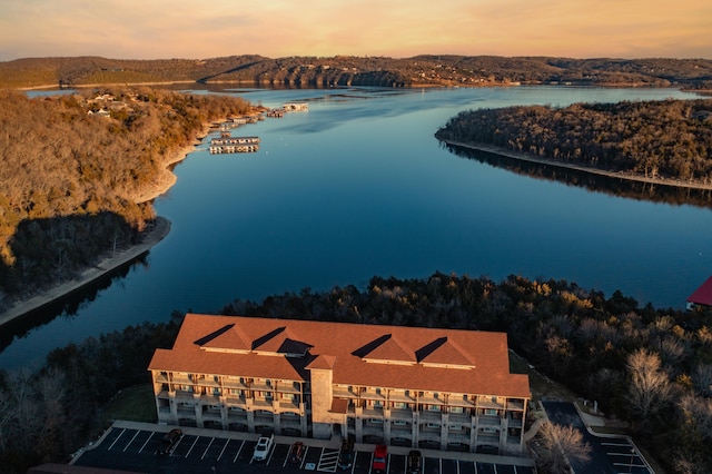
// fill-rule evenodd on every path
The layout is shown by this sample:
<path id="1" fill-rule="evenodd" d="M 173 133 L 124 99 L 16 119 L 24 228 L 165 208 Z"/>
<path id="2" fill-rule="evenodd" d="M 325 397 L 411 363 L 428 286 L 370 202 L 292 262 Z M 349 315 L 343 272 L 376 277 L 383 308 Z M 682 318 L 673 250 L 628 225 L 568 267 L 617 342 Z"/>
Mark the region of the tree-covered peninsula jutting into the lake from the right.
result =
<path id="1" fill-rule="evenodd" d="M 471 110 L 436 137 L 645 179 L 712 185 L 710 99 Z"/>

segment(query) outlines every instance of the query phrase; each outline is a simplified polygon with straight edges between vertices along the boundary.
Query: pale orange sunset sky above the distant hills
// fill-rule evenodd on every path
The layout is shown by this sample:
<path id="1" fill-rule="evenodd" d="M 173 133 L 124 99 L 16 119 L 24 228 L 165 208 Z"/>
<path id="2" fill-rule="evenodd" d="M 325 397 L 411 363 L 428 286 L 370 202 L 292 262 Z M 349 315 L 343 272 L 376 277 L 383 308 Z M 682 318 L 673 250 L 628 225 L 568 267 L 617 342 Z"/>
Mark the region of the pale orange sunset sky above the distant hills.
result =
<path id="1" fill-rule="evenodd" d="M 0 61 L 421 53 L 712 59 L 710 0 L 2 0 Z"/>

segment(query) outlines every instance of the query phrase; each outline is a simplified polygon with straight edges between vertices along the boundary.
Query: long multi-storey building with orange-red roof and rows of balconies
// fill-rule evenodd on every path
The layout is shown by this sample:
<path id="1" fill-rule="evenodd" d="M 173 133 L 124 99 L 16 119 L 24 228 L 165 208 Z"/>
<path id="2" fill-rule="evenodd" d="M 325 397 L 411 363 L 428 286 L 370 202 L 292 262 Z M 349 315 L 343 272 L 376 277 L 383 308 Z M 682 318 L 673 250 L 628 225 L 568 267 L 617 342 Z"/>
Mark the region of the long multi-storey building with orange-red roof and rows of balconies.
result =
<path id="1" fill-rule="evenodd" d="M 521 454 L 504 333 L 186 316 L 148 369 L 159 423 Z"/>

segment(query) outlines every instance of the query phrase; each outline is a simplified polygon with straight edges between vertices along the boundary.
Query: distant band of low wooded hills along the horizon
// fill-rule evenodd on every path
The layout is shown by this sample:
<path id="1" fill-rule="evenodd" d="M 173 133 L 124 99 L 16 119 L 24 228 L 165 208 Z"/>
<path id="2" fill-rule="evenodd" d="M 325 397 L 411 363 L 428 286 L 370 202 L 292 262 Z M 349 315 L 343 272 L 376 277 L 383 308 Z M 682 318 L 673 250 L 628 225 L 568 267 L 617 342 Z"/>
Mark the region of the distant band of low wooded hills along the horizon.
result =
<path id="1" fill-rule="evenodd" d="M 28 58 L 0 62 L 0 87 L 147 82 L 246 82 L 329 86 L 510 86 L 562 83 L 712 89 L 709 59 L 570 59 L 433 56 L 120 60 Z"/>

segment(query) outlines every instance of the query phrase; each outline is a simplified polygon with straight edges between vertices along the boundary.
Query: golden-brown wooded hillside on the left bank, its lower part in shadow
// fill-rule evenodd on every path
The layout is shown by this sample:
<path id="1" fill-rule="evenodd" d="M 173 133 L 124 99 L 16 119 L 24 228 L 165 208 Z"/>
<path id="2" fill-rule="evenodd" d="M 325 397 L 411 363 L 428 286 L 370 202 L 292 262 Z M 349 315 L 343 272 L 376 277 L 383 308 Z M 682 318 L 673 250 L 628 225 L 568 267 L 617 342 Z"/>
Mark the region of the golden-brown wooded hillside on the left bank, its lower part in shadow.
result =
<path id="1" fill-rule="evenodd" d="M 135 244 L 166 169 L 239 98 L 158 90 L 29 99 L 0 90 L 0 309 Z M 7 302 L 6 302 L 7 303 Z"/>

